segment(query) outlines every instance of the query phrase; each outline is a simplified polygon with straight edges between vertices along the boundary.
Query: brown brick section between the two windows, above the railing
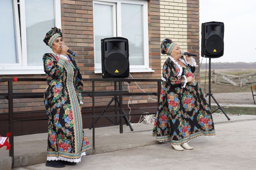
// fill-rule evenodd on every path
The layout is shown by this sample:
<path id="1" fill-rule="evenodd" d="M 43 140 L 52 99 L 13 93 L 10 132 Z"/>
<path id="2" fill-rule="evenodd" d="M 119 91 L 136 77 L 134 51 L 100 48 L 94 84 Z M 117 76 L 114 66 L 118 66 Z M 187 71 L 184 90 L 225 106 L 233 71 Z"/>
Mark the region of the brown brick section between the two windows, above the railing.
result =
<path id="1" fill-rule="evenodd" d="M 92 0 L 62 0 L 62 32 L 67 46 L 78 56 L 75 60 L 83 78 L 94 74 L 94 32 Z"/>

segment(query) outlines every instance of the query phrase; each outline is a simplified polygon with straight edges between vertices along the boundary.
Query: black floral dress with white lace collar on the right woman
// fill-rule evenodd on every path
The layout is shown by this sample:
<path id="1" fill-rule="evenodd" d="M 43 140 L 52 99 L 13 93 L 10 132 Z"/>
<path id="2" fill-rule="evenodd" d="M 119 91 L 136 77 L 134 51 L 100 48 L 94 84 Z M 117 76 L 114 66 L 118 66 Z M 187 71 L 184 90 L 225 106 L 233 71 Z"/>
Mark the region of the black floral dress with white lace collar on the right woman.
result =
<path id="1" fill-rule="evenodd" d="M 188 65 L 183 57 L 180 61 L 186 68 L 170 56 L 164 63 L 160 103 L 153 128 L 157 141 L 170 140 L 174 145 L 200 135 L 215 135 L 212 113 L 198 82 L 195 78 L 190 83 L 186 80 L 186 77 L 194 77 L 195 62 Z"/>

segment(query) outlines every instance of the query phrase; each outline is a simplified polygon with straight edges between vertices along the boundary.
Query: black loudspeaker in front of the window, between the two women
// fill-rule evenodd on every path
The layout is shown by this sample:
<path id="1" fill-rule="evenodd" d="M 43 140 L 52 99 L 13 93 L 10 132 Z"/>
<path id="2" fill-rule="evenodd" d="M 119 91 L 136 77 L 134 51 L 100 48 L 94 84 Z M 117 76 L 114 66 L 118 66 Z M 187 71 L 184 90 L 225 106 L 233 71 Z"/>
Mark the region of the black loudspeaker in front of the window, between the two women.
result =
<path id="1" fill-rule="evenodd" d="M 128 39 L 112 37 L 101 39 L 102 78 L 129 77 Z"/>

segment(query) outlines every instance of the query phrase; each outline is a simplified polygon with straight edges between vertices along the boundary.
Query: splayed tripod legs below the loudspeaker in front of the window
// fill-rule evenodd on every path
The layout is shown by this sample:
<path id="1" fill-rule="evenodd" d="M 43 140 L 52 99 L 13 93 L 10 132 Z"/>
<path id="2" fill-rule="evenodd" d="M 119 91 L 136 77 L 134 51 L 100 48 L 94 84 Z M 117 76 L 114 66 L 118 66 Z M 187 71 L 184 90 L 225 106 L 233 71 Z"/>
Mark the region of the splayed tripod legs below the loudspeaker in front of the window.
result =
<path id="1" fill-rule="evenodd" d="M 111 101 L 108 102 L 107 106 L 103 109 L 103 111 L 101 112 L 100 116 L 104 114 L 104 112 L 106 111 L 106 109 L 110 106 L 110 104 L 111 104 L 113 101 L 117 102 L 117 104 L 118 104 L 118 106 L 119 106 L 119 108 L 120 108 L 120 103 L 119 103 L 118 98 L 117 98 L 117 97 L 113 97 L 113 98 L 111 99 Z M 115 112 L 116 112 L 116 109 L 117 109 L 117 108 L 116 108 L 116 104 L 115 104 Z M 122 114 L 125 114 L 123 108 L 122 108 Z M 105 118 L 108 119 L 107 117 L 105 117 Z M 115 117 L 115 118 L 116 118 L 116 117 Z M 133 131 L 132 125 L 130 124 L 130 122 L 129 122 L 127 116 L 123 116 L 123 118 L 124 118 L 124 120 L 125 120 L 125 122 L 126 122 L 126 125 L 130 127 L 130 130 L 131 130 L 131 131 Z M 98 121 L 98 119 L 100 119 L 100 117 L 97 117 L 97 119 L 94 121 L 94 124 Z M 116 121 L 113 122 L 113 121 L 110 120 L 110 119 L 108 119 L 108 120 L 111 121 L 114 125 L 117 125 L 117 124 L 120 122 L 120 121 L 119 121 L 118 123 L 116 123 Z M 115 119 L 115 120 L 116 120 L 116 119 Z M 91 130 L 91 128 L 92 128 L 92 125 L 93 125 L 93 124 L 91 124 L 91 126 L 89 127 L 90 130 Z"/>

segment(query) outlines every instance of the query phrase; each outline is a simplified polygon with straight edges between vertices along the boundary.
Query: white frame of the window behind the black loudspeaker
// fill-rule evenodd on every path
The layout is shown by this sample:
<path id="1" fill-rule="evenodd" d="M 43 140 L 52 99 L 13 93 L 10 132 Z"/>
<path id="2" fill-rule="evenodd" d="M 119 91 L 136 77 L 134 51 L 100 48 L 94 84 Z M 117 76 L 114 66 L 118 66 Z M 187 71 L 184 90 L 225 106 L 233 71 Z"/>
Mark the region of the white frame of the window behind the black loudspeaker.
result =
<path id="1" fill-rule="evenodd" d="M 143 5 L 143 54 L 144 65 L 130 65 L 130 72 L 154 72 L 149 68 L 149 43 L 148 43 L 148 2 L 140 0 L 100 0 L 93 1 L 94 4 L 116 4 L 116 16 L 113 13 L 113 21 L 116 21 L 116 25 L 113 22 L 113 32 L 116 32 L 116 36 L 122 37 L 122 21 L 121 21 L 121 4 L 138 4 Z M 95 27 L 95 25 L 94 25 Z M 114 29 L 116 28 L 116 30 Z M 113 34 L 115 35 L 115 34 Z M 129 41 L 129 40 L 128 40 Z M 94 35 L 94 58 L 95 58 L 95 35 Z M 102 73 L 101 64 L 96 63 L 94 60 L 95 73 Z"/>

